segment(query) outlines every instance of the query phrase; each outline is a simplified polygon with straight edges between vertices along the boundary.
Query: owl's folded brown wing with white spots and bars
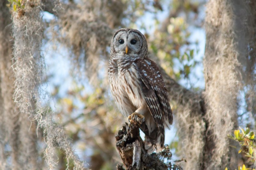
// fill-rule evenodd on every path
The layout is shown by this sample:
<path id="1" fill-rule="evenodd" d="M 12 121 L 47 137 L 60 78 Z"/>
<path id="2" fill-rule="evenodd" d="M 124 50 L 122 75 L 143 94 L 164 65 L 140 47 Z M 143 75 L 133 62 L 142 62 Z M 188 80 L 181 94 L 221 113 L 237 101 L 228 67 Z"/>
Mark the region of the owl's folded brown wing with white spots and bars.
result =
<path id="1" fill-rule="evenodd" d="M 167 98 L 166 87 L 159 68 L 149 59 L 138 59 L 142 92 L 145 96 L 148 109 L 153 116 L 157 127 L 162 133 L 161 145 L 164 145 L 164 117 L 172 123 L 172 110 Z M 164 112 L 164 113 L 163 113 Z"/>

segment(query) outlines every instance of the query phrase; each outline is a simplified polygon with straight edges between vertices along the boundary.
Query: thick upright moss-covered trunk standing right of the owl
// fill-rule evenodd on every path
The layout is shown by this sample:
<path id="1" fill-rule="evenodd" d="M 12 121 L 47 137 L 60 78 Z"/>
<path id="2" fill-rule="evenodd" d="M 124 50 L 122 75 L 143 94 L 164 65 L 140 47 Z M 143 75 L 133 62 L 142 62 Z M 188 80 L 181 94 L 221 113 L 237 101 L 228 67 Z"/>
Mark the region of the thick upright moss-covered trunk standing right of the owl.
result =
<path id="1" fill-rule="evenodd" d="M 247 40 L 245 1 L 210 0 L 207 4 L 204 77 L 207 120 L 200 169 L 235 169 L 239 155 L 227 135 L 237 126 L 237 97 L 242 87 L 241 60 Z M 234 145 L 234 144 L 233 144 Z"/>

